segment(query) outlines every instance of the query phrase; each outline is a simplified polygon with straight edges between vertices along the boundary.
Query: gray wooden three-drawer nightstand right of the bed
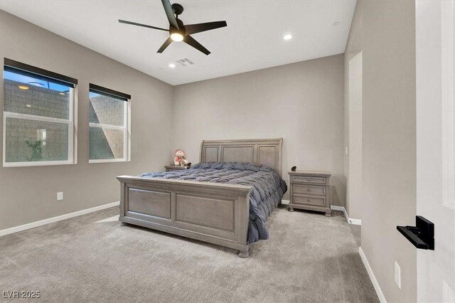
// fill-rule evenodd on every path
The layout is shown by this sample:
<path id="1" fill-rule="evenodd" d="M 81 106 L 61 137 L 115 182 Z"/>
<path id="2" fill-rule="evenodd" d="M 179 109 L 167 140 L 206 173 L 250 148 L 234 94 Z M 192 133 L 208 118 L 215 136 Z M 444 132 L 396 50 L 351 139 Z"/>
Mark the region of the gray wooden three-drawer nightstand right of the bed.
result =
<path id="1" fill-rule="evenodd" d="M 323 211 L 331 217 L 330 186 L 331 173 L 325 171 L 289 171 L 289 211 L 294 208 L 308 211 Z"/>

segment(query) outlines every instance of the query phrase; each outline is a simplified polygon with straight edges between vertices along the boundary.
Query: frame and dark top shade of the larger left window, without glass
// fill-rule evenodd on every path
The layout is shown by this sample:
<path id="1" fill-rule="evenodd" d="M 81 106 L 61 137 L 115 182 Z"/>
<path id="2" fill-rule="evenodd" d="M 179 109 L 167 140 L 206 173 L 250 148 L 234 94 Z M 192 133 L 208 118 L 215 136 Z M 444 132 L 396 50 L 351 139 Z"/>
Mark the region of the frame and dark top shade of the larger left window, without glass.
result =
<path id="1" fill-rule="evenodd" d="M 69 113 L 68 119 L 55 118 L 55 117 L 44 117 L 38 115 L 21 114 L 18 112 L 5 112 L 3 111 L 3 155 L 2 155 L 2 166 L 3 167 L 28 167 L 28 166 L 52 166 L 52 165 L 70 165 L 77 164 L 77 79 L 69 78 L 58 73 L 53 73 L 48 70 L 36 68 L 32 65 L 20 63 L 8 58 L 4 58 L 3 71 L 8 68 L 15 68 L 16 70 L 23 70 L 26 73 L 39 78 L 44 76 L 50 78 L 50 80 L 56 80 L 57 82 L 65 82 L 73 85 L 69 87 Z M 2 85 L 4 85 L 4 73 L 1 73 Z M 4 98 L 4 96 L 3 96 Z M 4 100 L 4 99 L 3 99 Z M 54 122 L 61 124 L 68 124 L 68 160 L 57 160 L 57 161 L 20 161 L 20 162 L 6 162 L 6 119 L 26 119 L 37 122 Z"/>

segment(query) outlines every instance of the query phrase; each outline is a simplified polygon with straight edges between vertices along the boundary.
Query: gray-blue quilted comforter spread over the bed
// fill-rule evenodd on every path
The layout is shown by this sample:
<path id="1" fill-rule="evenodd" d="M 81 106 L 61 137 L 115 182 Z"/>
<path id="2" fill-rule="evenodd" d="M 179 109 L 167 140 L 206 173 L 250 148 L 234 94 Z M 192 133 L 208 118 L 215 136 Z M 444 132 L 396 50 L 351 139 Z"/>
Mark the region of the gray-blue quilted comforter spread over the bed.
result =
<path id="1" fill-rule="evenodd" d="M 252 186 L 248 243 L 269 238 L 267 216 L 278 206 L 287 191 L 286 183 L 268 166 L 241 162 L 198 163 L 183 171 L 141 174 L 146 178 L 217 182 Z"/>

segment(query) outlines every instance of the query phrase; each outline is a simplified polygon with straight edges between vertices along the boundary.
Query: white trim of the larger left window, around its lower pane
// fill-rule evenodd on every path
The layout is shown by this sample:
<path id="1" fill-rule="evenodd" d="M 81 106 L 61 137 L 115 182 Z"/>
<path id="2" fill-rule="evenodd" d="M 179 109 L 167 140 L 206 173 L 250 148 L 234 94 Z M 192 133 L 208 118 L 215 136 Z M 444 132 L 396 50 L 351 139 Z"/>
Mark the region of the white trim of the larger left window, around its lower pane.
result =
<path id="1" fill-rule="evenodd" d="M 75 130 L 75 91 L 76 87 L 70 87 L 70 112 L 69 119 L 44 117 L 37 115 L 20 114 L 18 112 L 3 112 L 3 167 L 24 167 L 24 166 L 50 166 L 50 165 L 68 165 L 76 164 L 75 161 L 75 145 L 76 138 L 74 136 Z M 68 124 L 68 160 L 65 161 L 21 161 L 21 162 L 6 162 L 6 118 L 28 119 L 33 121 L 42 122 L 57 122 Z"/>

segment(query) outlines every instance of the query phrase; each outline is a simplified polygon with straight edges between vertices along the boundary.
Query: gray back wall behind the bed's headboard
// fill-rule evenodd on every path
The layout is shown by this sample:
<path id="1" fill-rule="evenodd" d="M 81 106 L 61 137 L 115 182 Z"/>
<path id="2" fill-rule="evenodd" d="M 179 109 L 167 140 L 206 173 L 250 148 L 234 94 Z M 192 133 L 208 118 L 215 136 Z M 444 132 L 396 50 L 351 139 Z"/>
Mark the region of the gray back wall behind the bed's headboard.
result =
<path id="1" fill-rule="evenodd" d="M 294 165 L 331 171 L 333 204 L 343 206 L 343 73 L 333 55 L 178 85 L 175 147 L 196 163 L 203 139 L 283 137 L 284 179 Z"/>

